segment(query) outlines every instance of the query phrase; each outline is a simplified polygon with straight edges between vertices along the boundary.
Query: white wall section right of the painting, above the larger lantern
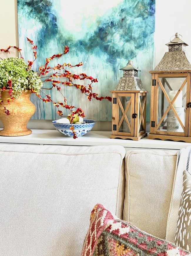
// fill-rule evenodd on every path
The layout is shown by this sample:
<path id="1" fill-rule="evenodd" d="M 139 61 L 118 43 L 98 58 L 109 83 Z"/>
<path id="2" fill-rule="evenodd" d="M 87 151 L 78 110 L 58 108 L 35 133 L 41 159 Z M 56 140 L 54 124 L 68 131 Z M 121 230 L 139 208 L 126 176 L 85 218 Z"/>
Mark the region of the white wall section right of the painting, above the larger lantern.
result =
<path id="1" fill-rule="evenodd" d="M 190 0 L 156 0 L 155 16 L 155 66 L 162 59 L 168 47 L 165 43 L 176 32 L 188 44 L 187 52 L 191 56 L 191 1 Z"/>

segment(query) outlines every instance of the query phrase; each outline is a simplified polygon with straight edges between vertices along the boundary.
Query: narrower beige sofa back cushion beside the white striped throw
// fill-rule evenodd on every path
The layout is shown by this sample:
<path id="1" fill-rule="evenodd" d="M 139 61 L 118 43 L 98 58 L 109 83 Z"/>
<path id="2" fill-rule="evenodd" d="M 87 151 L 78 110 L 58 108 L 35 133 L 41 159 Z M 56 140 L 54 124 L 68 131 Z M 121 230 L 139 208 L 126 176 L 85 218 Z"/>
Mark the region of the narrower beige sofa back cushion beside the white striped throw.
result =
<path id="1" fill-rule="evenodd" d="M 177 151 L 131 150 L 125 156 L 123 219 L 165 239 Z"/>

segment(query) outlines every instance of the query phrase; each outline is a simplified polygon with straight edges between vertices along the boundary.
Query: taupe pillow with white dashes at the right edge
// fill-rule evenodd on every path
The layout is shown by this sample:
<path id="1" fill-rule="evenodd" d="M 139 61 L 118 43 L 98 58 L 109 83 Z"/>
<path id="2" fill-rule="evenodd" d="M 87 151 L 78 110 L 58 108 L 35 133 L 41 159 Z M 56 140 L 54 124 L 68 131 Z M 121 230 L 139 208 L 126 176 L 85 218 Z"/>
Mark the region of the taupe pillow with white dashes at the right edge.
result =
<path id="1" fill-rule="evenodd" d="M 191 250 L 191 175 L 188 171 L 183 172 L 183 189 L 180 199 L 175 244 Z"/>

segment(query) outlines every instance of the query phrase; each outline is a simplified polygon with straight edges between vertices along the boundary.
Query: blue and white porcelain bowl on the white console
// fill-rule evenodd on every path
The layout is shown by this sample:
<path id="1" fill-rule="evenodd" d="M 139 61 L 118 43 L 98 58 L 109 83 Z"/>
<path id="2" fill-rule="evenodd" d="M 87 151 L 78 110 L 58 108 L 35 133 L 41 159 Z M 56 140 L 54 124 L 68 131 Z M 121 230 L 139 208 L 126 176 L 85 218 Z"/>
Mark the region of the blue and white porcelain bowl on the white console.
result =
<path id="1" fill-rule="evenodd" d="M 73 127 L 76 131 L 76 136 L 83 136 L 86 133 L 88 133 L 89 131 L 91 131 L 91 129 L 93 128 L 93 126 L 95 125 L 96 121 L 95 120 L 91 120 L 91 119 L 84 119 L 83 120 L 86 123 L 81 123 L 81 124 L 73 124 Z M 52 121 L 54 127 L 56 128 L 57 131 L 59 131 L 60 133 L 62 133 L 63 135 L 69 136 L 69 137 L 73 137 L 73 133 L 70 130 L 71 124 L 63 124 L 63 123 L 56 123 L 56 120 Z"/>

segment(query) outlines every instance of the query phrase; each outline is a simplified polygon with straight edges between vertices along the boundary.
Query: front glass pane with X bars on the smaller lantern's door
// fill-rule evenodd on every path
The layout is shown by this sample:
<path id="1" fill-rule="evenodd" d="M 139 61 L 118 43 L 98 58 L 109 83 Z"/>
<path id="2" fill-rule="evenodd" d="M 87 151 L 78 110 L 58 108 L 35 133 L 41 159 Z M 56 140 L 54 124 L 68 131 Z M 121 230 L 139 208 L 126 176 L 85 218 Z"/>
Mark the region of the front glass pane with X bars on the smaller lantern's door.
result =
<path id="1" fill-rule="evenodd" d="M 131 132 L 131 97 L 118 97 L 119 132 Z"/>

